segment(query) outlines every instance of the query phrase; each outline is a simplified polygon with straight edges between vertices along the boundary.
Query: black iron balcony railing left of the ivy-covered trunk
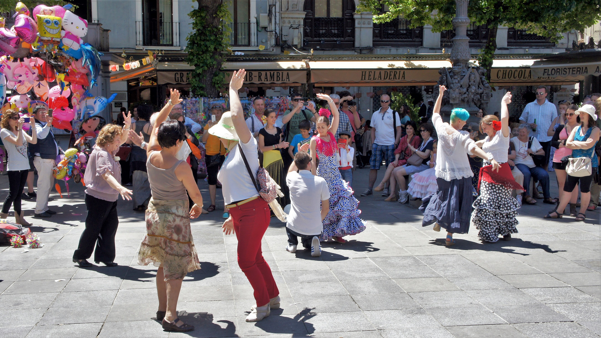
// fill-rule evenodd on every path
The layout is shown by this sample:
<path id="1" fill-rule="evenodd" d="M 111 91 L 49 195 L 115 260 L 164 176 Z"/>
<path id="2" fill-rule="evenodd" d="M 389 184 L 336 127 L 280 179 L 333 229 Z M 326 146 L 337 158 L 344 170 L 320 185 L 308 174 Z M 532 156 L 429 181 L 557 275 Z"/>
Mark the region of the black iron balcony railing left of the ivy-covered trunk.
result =
<path id="1" fill-rule="evenodd" d="M 136 21 L 136 46 L 180 46 L 180 23 Z"/>

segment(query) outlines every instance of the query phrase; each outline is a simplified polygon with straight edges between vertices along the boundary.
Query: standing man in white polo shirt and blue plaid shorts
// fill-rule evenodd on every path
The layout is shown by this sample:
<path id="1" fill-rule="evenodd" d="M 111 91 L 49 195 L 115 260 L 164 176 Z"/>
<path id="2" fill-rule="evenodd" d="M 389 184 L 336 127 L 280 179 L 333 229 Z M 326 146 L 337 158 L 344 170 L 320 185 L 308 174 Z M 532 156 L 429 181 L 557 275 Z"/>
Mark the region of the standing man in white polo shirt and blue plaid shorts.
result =
<path id="1" fill-rule="evenodd" d="M 398 112 L 390 108 L 390 96 L 380 96 L 382 108 L 371 114 L 371 158 L 370 158 L 370 183 L 361 196 L 373 195 L 374 183 L 377 179 L 377 171 L 382 165 L 382 158 L 386 161 L 386 167 L 394 161 L 394 149 L 401 138 L 401 119 Z M 393 114 L 394 113 L 394 114 Z M 388 196 L 388 182 L 382 192 L 382 196 Z"/>

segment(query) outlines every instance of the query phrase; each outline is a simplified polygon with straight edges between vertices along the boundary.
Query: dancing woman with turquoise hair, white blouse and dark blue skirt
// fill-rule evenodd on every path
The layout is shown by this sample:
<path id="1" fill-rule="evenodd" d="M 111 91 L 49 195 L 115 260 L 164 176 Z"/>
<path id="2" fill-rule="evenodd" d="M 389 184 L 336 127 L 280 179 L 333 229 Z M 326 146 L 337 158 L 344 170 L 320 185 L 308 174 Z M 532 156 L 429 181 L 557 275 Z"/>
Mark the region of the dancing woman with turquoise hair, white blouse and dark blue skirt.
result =
<path id="1" fill-rule="evenodd" d="M 434 105 L 432 122 L 438 134 L 436 148 L 436 183 L 438 190 L 423 200 L 419 208 L 424 212 L 422 226 L 434 223 L 434 230 L 447 230 L 447 246 L 455 244 L 453 233 L 468 233 L 469 222 L 474 203 L 474 187 L 472 186 L 472 169 L 469 166 L 468 154 L 477 155 L 492 164 L 493 170 L 498 170 L 499 164 L 492 156 L 478 148 L 462 131 L 469 118 L 469 112 L 463 108 L 451 111 L 451 123 L 442 121 L 440 114 L 444 85 L 440 86 L 440 94 Z"/>

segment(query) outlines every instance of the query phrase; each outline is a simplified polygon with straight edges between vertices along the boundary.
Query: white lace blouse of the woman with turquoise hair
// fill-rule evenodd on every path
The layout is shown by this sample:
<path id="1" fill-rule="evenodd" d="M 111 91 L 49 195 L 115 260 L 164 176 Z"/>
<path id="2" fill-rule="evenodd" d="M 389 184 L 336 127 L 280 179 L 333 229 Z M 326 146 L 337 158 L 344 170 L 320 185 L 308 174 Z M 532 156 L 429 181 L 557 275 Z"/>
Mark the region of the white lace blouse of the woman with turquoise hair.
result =
<path id="1" fill-rule="evenodd" d="M 469 133 L 456 131 L 448 135 L 449 124 L 443 122 L 439 114 L 432 117 L 432 122 L 436 128 L 436 134 L 438 134 L 436 177 L 450 181 L 474 176 L 469 167 L 468 154 L 473 155 L 472 149 L 476 147 L 476 144 L 469 138 Z"/>

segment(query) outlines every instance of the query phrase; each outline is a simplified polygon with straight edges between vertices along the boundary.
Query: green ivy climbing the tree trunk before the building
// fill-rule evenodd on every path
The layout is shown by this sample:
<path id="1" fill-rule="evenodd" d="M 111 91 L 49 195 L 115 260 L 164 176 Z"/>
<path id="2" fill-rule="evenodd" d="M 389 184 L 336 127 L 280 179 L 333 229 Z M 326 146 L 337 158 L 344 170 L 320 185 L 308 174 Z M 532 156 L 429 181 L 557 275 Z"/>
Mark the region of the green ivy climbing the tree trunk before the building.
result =
<path id="1" fill-rule="evenodd" d="M 209 88 L 206 88 L 203 79 L 212 78 L 212 85 L 216 90 L 224 88 L 225 73 L 220 72 L 220 68 L 222 54 L 230 48 L 231 29 L 226 23 L 231 22 L 231 14 L 227 4 L 221 3 L 216 13 L 221 22 L 219 25 L 212 23 L 215 18 L 209 17 L 210 13 L 200 5 L 190 11 L 188 16 L 192 19 L 192 32 L 186 37 L 186 62 L 194 66 L 190 76 L 190 90 L 196 96 L 208 96 Z"/>

